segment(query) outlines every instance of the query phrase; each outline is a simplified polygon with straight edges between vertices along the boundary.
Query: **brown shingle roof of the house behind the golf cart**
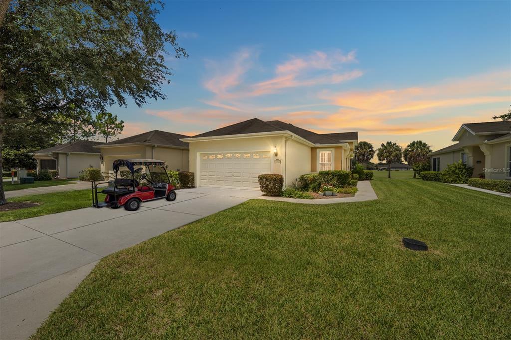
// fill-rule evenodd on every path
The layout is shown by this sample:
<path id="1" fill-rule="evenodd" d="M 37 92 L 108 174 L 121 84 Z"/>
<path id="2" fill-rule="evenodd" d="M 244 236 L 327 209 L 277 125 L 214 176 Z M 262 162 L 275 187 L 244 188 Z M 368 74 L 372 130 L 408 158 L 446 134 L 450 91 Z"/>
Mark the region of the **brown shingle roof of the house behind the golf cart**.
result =
<path id="1" fill-rule="evenodd" d="M 188 143 L 181 141 L 179 138 L 188 138 L 190 136 L 181 135 L 179 133 L 152 130 L 138 135 L 117 139 L 108 143 L 97 145 L 97 148 L 104 148 L 123 144 L 156 144 L 167 147 L 186 148 Z"/>

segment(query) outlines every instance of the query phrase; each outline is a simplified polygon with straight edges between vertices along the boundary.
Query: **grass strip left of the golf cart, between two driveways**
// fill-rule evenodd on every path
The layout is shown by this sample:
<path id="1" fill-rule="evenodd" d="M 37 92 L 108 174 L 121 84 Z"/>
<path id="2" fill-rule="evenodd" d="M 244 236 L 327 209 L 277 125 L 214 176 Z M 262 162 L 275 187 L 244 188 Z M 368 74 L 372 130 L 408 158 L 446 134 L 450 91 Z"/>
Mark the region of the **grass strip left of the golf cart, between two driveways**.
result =
<path id="1" fill-rule="evenodd" d="M 100 201 L 105 196 L 98 195 Z M 42 195 L 31 195 L 10 198 L 8 202 L 34 202 L 41 205 L 19 209 L 14 211 L 0 212 L 0 222 L 22 220 L 24 218 L 54 214 L 57 212 L 75 210 L 92 206 L 92 194 L 89 190 L 70 190 Z"/>

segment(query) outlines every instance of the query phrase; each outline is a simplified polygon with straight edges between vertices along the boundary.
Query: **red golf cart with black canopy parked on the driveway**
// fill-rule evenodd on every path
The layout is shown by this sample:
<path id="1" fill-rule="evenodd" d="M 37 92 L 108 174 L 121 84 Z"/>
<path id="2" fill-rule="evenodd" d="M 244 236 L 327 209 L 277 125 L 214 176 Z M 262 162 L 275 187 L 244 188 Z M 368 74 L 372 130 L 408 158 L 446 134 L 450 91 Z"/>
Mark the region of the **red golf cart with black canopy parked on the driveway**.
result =
<path id="1" fill-rule="evenodd" d="M 137 165 L 145 166 L 145 172 L 142 173 L 143 167 L 135 167 Z M 128 168 L 131 178 L 117 178 L 121 166 Z M 142 202 L 160 199 L 172 202 L 176 199 L 176 191 L 170 184 L 164 161 L 158 159 L 116 159 L 113 161 L 113 172 L 115 173 L 113 181 L 92 182 L 93 207 L 117 209 L 124 206 L 124 209 L 128 211 L 135 211 L 140 208 Z M 101 184 L 108 184 L 108 188 L 101 191 L 106 194 L 104 202 L 98 202 L 98 185 Z"/>

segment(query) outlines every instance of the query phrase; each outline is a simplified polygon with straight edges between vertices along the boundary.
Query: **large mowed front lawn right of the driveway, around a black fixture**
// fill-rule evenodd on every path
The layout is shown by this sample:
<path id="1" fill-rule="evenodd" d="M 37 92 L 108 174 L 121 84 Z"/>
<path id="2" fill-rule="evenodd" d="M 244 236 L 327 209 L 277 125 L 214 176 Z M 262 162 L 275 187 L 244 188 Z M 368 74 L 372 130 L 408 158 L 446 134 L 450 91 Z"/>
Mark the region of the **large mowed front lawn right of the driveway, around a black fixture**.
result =
<path id="1" fill-rule="evenodd" d="M 509 338 L 511 200 L 372 185 L 378 201 L 251 200 L 112 254 L 33 338 Z"/>

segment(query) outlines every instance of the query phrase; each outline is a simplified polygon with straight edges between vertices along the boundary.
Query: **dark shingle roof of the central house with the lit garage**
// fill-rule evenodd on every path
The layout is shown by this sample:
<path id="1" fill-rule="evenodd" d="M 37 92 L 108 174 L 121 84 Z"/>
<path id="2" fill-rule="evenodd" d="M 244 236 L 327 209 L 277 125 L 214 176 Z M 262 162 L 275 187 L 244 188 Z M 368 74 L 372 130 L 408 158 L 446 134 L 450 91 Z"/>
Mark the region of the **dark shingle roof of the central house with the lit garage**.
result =
<path id="1" fill-rule="evenodd" d="M 269 120 L 265 122 L 259 118 L 252 118 L 244 120 L 240 123 L 231 124 L 223 128 L 207 131 L 193 136 L 193 138 L 200 137 L 214 137 L 214 136 L 229 136 L 247 133 L 260 133 L 260 132 L 275 132 L 275 131 L 290 131 L 304 139 L 307 139 L 314 144 L 339 144 L 341 141 L 337 138 L 332 138 L 328 135 L 315 133 L 310 130 L 302 129 L 295 125 L 282 122 L 281 120 Z M 353 132 L 349 132 L 353 134 Z M 356 134 L 356 132 L 355 132 Z M 351 135 L 353 136 L 353 135 Z M 351 138 L 356 139 L 356 138 Z"/>

